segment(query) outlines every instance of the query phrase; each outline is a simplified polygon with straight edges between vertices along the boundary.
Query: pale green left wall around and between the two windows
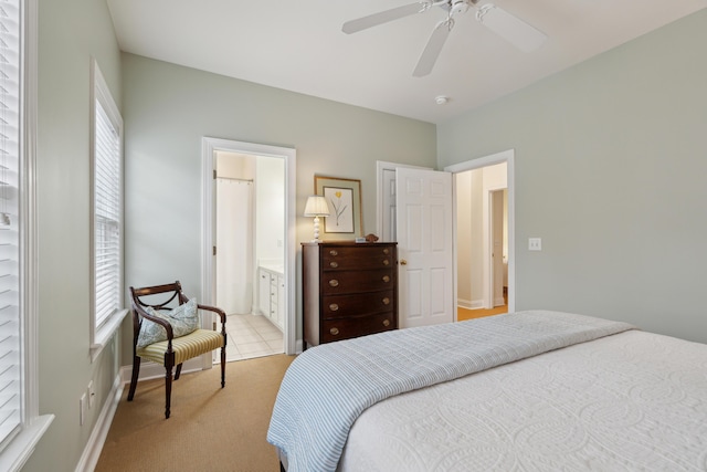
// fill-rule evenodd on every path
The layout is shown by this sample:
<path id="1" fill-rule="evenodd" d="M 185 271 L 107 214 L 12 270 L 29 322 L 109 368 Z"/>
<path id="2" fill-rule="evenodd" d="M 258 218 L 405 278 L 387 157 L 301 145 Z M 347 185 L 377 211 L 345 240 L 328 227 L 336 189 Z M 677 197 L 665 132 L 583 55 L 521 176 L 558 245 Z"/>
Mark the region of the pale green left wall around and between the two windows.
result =
<path id="1" fill-rule="evenodd" d="M 25 472 L 73 471 L 117 376 L 108 346 L 91 361 L 89 66 L 120 106 L 120 55 L 104 1 L 39 1 L 38 188 L 40 413 L 56 417 Z M 93 380 L 94 406 L 78 424 L 78 398 Z"/>

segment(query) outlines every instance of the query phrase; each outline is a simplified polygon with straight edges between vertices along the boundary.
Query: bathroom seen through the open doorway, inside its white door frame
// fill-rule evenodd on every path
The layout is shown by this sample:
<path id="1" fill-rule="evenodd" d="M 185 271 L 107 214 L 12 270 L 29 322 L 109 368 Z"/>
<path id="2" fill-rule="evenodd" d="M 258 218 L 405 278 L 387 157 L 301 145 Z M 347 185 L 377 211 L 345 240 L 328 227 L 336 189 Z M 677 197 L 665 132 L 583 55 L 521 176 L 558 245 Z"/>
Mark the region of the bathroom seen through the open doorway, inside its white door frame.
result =
<path id="1" fill-rule="evenodd" d="M 217 150 L 215 170 L 215 305 L 228 316 L 226 360 L 282 354 L 285 162 Z"/>

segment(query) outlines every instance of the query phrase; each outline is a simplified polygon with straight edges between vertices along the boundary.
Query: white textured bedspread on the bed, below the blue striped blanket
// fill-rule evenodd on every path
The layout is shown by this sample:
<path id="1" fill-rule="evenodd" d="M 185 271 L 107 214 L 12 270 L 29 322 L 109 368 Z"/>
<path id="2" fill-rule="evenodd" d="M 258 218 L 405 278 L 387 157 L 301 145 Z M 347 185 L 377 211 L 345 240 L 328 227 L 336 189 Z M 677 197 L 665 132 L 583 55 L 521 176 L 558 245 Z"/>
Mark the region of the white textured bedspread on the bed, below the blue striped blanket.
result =
<path id="1" fill-rule="evenodd" d="M 707 471 L 707 345 L 629 331 L 389 398 L 339 470 Z"/>

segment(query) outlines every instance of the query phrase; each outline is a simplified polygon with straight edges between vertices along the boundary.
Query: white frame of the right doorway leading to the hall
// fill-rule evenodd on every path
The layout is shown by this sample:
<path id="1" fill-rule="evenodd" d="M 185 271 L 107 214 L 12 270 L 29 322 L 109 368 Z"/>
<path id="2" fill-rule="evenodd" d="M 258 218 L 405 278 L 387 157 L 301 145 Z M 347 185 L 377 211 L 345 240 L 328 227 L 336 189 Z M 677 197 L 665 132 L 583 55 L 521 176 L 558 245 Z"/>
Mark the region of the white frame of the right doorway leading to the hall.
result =
<path id="1" fill-rule="evenodd" d="M 481 169 L 482 167 L 495 166 L 497 164 L 506 162 L 506 185 L 508 189 L 508 313 L 516 311 L 516 244 L 515 244 L 515 149 L 507 149 L 500 153 L 492 154 L 488 156 L 479 157 L 477 159 L 467 160 L 464 162 L 446 166 L 445 171 L 457 174 L 467 170 Z M 453 201 L 453 218 L 454 218 L 454 234 L 456 234 L 456 180 L 452 180 L 452 201 Z M 457 253 L 456 238 L 454 238 L 454 253 Z M 457 298 L 456 292 L 456 256 L 454 258 L 454 300 Z M 455 318 L 456 319 L 456 318 Z"/>

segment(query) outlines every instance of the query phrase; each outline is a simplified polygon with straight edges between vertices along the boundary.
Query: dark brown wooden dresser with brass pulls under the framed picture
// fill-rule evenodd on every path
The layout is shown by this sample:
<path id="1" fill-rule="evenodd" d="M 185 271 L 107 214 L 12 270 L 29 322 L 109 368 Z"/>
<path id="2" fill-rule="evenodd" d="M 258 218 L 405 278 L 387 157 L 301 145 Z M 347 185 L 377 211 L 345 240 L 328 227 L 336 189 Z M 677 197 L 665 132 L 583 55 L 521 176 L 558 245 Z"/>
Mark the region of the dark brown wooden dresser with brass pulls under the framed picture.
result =
<path id="1" fill-rule="evenodd" d="M 302 244 L 305 348 L 398 328 L 395 244 Z"/>

